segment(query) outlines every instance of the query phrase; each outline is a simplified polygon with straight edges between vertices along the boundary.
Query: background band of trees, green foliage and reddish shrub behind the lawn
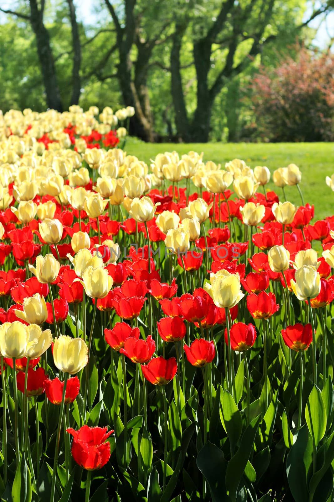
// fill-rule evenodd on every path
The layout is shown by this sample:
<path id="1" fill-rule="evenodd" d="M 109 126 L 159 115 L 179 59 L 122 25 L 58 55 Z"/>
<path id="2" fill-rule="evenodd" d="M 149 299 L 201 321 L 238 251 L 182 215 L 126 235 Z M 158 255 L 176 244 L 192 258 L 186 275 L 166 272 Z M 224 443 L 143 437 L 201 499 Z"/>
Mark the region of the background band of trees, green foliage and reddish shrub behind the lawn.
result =
<path id="1" fill-rule="evenodd" d="M 333 140 L 308 25 L 334 0 L 94 0 L 82 23 L 83 3 L 0 2 L 4 112 L 130 105 L 145 141 Z"/>

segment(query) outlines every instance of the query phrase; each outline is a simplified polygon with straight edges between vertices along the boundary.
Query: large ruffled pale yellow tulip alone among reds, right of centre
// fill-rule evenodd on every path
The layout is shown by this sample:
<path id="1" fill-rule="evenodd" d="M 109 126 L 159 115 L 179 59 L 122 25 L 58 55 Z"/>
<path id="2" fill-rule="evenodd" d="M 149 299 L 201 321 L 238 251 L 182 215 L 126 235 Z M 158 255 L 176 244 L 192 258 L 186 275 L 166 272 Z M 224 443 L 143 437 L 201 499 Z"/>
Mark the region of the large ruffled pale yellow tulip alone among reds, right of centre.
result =
<path id="1" fill-rule="evenodd" d="M 219 308 L 232 308 L 245 295 L 241 292 L 239 274 L 230 274 L 227 270 L 219 270 L 210 275 L 210 284 L 204 285 L 213 303 Z"/>

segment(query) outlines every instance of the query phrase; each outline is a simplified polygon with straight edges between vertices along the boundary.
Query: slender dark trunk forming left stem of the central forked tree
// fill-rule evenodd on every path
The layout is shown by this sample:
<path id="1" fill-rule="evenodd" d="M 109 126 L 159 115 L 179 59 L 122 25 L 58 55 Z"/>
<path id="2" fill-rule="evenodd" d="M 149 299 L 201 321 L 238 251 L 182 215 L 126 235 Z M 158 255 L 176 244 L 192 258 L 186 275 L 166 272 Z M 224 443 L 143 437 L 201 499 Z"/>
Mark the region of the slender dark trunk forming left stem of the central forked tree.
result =
<path id="1" fill-rule="evenodd" d="M 173 34 L 172 49 L 170 54 L 171 92 L 175 111 L 175 124 L 177 133 L 183 141 L 189 142 L 189 120 L 186 103 L 183 95 L 180 52 L 182 38 L 186 30 L 186 23 L 177 24 Z"/>

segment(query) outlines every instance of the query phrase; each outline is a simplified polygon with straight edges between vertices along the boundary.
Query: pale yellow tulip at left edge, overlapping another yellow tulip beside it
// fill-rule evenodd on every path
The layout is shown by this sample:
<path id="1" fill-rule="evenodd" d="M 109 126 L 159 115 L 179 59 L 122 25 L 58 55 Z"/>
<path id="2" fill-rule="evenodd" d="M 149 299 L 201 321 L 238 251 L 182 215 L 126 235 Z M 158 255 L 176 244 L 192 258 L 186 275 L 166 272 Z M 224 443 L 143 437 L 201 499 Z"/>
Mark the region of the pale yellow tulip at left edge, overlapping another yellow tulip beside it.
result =
<path id="1" fill-rule="evenodd" d="M 27 326 L 20 321 L 5 322 L 0 326 L 0 354 L 11 359 L 24 357 L 29 334 Z"/>

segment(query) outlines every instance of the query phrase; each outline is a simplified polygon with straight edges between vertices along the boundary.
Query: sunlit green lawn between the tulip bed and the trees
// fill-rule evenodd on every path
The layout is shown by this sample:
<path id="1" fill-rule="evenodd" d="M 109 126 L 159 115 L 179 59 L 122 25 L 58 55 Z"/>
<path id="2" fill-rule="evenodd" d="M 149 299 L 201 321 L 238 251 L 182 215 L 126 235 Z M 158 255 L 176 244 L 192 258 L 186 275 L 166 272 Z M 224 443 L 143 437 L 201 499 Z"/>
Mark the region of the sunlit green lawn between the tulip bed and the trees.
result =
<path id="1" fill-rule="evenodd" d="M 221 163 L 235 158 L 243 159 L 250 167 L 267 166 L 271 173 L 278 167 L 290 163 L 296 164 L 302 172 L 300 188 L 305 203 L 314 204 L 315 218 L 320 219 L 334 214 L 334 193 L 325 184 L 325 177 L 334 173 L 334 143 L 198 143 L 198 144 L 147 144 L 129 139 L 125 150 L 136 155 L 146 163 L 159 152 L 176 150 L 180 155 L 190 150 L 204 152 L 204 161 Z M 276 189 L 282 200 L 282 191 L 273 183 L 268 185 Z M 300 205 L 300 197 L 296 187 L 285 188 L 286 197 L 294 204 Z"/>

